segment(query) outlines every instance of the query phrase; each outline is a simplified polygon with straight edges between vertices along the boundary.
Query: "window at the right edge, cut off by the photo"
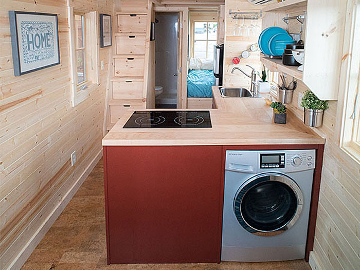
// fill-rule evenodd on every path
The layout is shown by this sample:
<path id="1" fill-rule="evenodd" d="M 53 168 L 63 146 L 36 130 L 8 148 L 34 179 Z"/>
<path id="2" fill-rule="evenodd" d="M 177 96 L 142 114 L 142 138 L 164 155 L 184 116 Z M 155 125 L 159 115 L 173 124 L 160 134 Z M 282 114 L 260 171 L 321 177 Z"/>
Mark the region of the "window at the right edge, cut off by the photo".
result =
<path id="1" fill-rule="evenodd" d="M 347 65 L 342 71 L 341 80 L 345 85 L 344 111 L 340 134 L 340 147 L 360 163 L 360 3 L 351 7 L 345 29 L 345 43 L 348 44 Z M 340 82 L 341 83 L 341 82 Z"/>

